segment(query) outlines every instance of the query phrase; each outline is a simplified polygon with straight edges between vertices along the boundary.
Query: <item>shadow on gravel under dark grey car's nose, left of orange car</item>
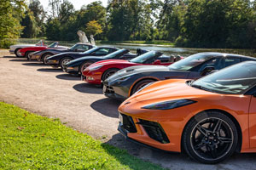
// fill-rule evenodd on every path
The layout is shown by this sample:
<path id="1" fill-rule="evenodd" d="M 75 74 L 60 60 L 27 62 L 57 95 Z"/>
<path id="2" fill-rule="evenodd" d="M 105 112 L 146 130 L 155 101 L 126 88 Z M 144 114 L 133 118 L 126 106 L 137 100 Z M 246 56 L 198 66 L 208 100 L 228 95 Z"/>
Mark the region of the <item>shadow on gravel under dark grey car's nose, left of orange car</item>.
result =
<path id="1" fill-rule="evenodd" d="M 93 102 L 90 107 L 95 111 L 102 113 L 102 115 L 110 117 L 119 117 L 118 107 L 121 104 L 121 101 L 114 99 L 99 99 Z"/>

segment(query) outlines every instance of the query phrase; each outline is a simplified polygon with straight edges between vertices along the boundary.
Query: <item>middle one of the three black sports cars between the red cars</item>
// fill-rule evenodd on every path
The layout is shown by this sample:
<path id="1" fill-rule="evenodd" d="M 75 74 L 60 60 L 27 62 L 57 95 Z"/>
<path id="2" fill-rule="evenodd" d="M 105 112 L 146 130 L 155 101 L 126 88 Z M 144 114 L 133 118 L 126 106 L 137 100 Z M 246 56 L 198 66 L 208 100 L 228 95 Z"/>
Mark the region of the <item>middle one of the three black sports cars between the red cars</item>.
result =
<path id="1" fill-rule="evenodd" d="M 61 53 L 61 54 L 56 54 L 48 57 L 46 59 L 46 64 L 54 67 L 61 67 L 61 69 L 63 69 L 64 65 L 73 59 L 79 59 L 85 56 L 99 56 L 99 57 L 105 56 L 115 52 L 116 50 L 119 50 L 119 48 L 96 47 L 96 48 L 91 48 L 88 51 L 85 51 L 83 53 L 74 53 L 74 52 Z"/>

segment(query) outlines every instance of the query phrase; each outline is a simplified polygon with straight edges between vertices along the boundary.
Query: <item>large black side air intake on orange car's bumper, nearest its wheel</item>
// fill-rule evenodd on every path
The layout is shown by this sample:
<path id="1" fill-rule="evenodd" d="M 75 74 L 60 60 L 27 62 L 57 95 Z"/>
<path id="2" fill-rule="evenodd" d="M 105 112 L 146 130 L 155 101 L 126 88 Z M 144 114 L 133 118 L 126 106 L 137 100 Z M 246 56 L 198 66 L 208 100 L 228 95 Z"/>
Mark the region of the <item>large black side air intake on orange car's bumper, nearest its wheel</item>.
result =
<path id="1" fill-rule="evenodd" d="M 148 133 L 148 136 L 151 139 L 157 140 L 162 144 L 170 143 L 165 131 L 157 122 L 149 122 L 145 121 L 143 119 L 139 119 L 140 122 L 137 122 L 137 124 L 140 124 L 145 129 L 146 133 Z"/>

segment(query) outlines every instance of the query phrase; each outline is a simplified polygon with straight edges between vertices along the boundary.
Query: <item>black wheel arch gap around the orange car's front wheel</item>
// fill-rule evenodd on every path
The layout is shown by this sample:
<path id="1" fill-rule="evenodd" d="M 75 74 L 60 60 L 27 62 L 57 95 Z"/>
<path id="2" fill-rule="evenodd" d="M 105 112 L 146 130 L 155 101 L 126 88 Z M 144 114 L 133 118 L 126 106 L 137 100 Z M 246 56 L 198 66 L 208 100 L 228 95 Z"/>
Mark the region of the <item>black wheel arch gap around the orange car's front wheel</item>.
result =
<path id="1" fill-rule="evenodd" d="M 237 129 L 237 133 L 238 133 L 238 144 L 237 144 L 237 147 L 236 147 L 236 152 L 240 152 L 241 151 L 241 144 L 242 144 L 242 133 L 241 133 L 241 126 L 239 124 L 239 122 L 237 122 L 235 116 L 232 116 L 229 112 L 227 111 L 224 111 L 224 110 L 219 110 L 219 109 L 209 109 L 209 110 L 205 110 L 205 111 L 201 111 L 201 112 L 208 112 L 208 111 L 218 111 L 222 114 L 224 114 L 225 116 L 228 116 L 232 122 L 235 123 L 236 125 L 236 129 Z M 189 118 L 189 121 L 186 122 L 185 126 L 183 127 L 183 133 L 184 133 L 184 129 L 185 127 L 187 127 L 188 123 L 193 119 L 195 118 L 196 115 L 200 114 L 201 112 L 195 114 L 194 116 L 190 117 Z M 183 133 L 181 135 L 181 144 L 180 144 L 180 149 L 183 151 Z"/>

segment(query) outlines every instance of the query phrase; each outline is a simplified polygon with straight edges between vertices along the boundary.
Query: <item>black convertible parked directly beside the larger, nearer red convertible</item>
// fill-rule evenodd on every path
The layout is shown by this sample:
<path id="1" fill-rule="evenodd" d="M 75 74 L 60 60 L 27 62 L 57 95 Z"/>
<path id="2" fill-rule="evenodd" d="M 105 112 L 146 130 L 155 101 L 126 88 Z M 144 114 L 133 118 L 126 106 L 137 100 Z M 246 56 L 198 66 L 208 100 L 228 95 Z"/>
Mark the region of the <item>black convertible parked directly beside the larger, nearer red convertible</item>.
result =
<path id="1" fill-rule="evenodd" d="M 138 48 L 137 54 L 131 54 L 129 52 L 129 49 L 124 48 L 103 57 L 86 56 L 79 59 L 73 59 L 72 61 L 68 62 L 66 65 L 63 66 L 63 71 L 66 71 L 70 74 L 81 74 L 81 72 L 84 71 L 87 66 L 96 63 L 97 61 L 101 61 L 104 59 L 133 59 L 138 55 L 144 54 L 148 51 Z"/>

